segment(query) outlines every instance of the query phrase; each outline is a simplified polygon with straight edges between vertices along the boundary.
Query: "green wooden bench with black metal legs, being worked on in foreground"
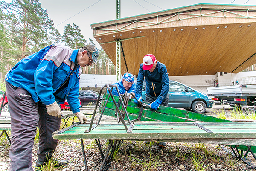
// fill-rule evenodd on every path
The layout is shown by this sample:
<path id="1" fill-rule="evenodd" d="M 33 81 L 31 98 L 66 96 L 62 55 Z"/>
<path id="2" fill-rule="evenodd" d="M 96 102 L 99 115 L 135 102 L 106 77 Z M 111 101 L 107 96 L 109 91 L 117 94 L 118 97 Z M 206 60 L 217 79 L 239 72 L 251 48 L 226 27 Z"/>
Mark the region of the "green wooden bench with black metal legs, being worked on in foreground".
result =
<path id="1" fill-rule="evenodd" d="M 107 87 L 110 94 L 104 96 L 98 121 L 94 119 L 99 101 L 96 103 L 90 124 L 74 124 L 52 134 L 54 139 L 81 140 L 86 170 L 83 139 L 96 140 L 103 160 L 100 171 L 108 170 L 114 151 L 122 140 L 224 144 L 230 146 L 232 150 L 234 146 L 239 158 L 243 156 L 241 148 L 241 154 L 239 153 L 239 146 L 241 146 L 246 148 L 244 157 L 251 152 L 256 159 L 254 155 L 256 152 L 255 122 L 232 122 L 165 106 L 160 106 L 159 110 L 152 110 L 128 100 L 129 96 L 126 94 L 113 96 L 110 87 L 117 89 L 113 85 L 102 86 L 99 97 L 104 87 Z M 100 122 L 103 114 L 117 117 L 120 123 Z M 102 151 L 100 139 L 109 140 L 109 143 L 106 143 L 108 148 L 105 153 Z M 233 152 L 235 153 L 234 150 Z"/>

